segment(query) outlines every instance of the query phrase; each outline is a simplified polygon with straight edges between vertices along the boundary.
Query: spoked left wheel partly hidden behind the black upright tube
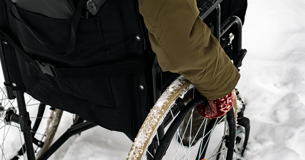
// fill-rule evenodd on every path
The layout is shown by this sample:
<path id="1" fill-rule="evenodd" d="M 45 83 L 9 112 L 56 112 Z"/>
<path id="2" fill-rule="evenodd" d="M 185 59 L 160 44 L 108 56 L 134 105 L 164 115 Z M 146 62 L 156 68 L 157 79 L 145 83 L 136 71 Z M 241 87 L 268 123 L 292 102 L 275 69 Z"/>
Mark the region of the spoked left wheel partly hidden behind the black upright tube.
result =
<path id="1" fill-rule="evenodd" d="M 3 160 L 27 159 L 23 132 L 18 124 L 16 99 L 8 99 L 5 87 L 0 88 L 0 145 Z M 47 107 L 43 103 L 25 94 L 27 111 L 31 120 L 31 134 L 36 158 L 39 158 L 50 146 L 57 131 L 62 110 Z M 36 116 L 35 116 L 36 115 Z"/>

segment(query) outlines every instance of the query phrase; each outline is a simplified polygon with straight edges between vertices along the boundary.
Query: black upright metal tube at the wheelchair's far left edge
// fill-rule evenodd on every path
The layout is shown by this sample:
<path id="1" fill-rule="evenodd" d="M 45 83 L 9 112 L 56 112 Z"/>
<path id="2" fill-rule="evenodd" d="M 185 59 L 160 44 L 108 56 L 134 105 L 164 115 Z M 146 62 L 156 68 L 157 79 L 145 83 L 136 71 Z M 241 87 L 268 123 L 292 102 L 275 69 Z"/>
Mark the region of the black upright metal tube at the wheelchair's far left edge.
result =
<path id="1" fill-rule="evenodd" d="M 5 5 L 1 1 L 2 5 Z M 5 16 L 5 15 L 4 15 Z M 8 26 L 2 26 L 8 28 Z M 24 85 L 20 75 L 18 62 L 15 55 L 15 49 L 13 47 L 13 41 L 10 38 L 1 39 L 1 63 L 3 64 L 3 74 L 5 78 L 5 88 L 9 99 L 16 97 L 18 110 L 19 110 L 19 125 L 20 130 L 23 132 L 25 149 L 27 152 L 28 160 L 35 160 L 33 140 L 31 133 L 31 121 L 29 113 L 27 112 L 25 100 L 24 100 Z"/>

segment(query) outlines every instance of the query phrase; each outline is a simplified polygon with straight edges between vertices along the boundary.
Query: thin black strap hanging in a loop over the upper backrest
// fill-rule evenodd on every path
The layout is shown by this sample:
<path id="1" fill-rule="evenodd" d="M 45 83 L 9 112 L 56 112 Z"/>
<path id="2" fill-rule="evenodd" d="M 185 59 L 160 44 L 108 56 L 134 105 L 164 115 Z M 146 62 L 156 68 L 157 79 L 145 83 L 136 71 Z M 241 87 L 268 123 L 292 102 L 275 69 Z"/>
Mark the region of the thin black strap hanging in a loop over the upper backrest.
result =
<path id="1" fill-rule="evenodd" d="M 45 48 L 47 48 L 48 50 L 50 50 L 51 52 L 53 52 L 54 54 L 56 55 L 59 55 L 59 56 L 65 56 L 69 53 L 71 53 L 74 48 L 75 48 L 75 43 L 76 43 L 76 35 L 75 35 L 75 32 L 76 32 L 76 28 L 77 28 L 77 25 L 79 23 L 79 20 L 81 19 L 81 12 L 82 12 L 82 9 L 84 8 L 86 4 L 86 0 L 80 0 L 78 5 L 77 5 L 77 9 L 76 9 L 76 12 L 73 16 L 73 19 L 72 19 L 72 23 L 71 23 L 71 35 L 70 35 L 70 41 L 69 41 L 69 45 L 68 45 L 68 48 L 67 48 L 67 51 L 64 52 L 62 50 L 60 50 L 58 47 L 55 47 L 54 45 L 52 44 L 49 44 L 49 43 L 46 43 L 42 40 L 40 40 L 34 33 L 33 31 L 26 25 L 24 24 L 23 22 L 21 22 L 19 20 L 20 16 L 19 16 L 19 13 L 17 12 L 17 16 L 19 17 L 16 17 L 15 14 L 13 14 L 12 12 L 12 8 L 14 10 L 17 10 L 16 9 L 16 5 L 13 4 L 11 7 L 10 7 L 10 13 L 11 15 L 14 17 L 14 19 L 16 19 L 18 22 L 20 22 L 21 24 L 23 24 L 33 35 L 34 37 L 41 43 L 41 45 L 43 45 Z"/>

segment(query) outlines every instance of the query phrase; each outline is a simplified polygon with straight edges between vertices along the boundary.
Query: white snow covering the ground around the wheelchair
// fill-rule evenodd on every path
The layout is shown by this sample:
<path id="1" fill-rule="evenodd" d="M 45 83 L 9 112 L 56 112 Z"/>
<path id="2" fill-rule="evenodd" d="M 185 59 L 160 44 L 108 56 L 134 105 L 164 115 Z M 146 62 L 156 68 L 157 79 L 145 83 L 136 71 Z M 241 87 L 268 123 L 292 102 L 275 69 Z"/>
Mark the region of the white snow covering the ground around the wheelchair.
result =
<path id="1" fill-rule="evenodd" d="M 242 32 L 248 52 L 237 85 L 251 121 L 244 160 L 305 160 L 304 9 L 304 0 L 248 0 Z M 64 113 L 60 123 L 63 133 L 72 115 Z M 131 145 L 123 133 L 95 127 L 49 159 L 123 160 Z"/>

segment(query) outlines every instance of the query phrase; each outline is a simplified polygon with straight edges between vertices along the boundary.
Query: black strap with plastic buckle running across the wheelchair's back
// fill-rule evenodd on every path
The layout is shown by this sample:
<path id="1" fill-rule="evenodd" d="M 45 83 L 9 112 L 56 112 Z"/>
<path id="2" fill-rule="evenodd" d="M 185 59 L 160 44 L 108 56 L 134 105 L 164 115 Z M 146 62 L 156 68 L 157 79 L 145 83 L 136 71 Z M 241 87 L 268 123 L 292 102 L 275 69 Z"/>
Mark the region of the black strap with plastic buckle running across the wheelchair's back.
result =
<path id="1" fill-rule="evenodd" d="M 26 63 L 29 65 L 34 65 L 42 73 L 47 73 L 51 76 L 57 78 L 74 78 L 74 79 L 84 79 L 84 78 L 104 78 L 104 77 L 115 77 L 122 76 L 132 73 L 138 73 L 148 69 L 146 63 L 146 56 L 141 56 L 137 58 L 131 58 L 124 61 L 118 61 L 115 63 L 109 63 L 105 65 L 100 65 L 96 67 L 88 68 L 56 68 L 55 65 L 52 65 L 47 62 L 40 62 L 38 60 L 34 61 L 30 56 L 25 54 L 25 52 L 15 43 L 9 35 L 0 30 L 1 39 L 5 39 L 7 42 L 12 44 L 15 49 L 17 49 Z M 43 64 L 43 65 L 41 65 Z M 49 67 L 42 69 L 41 67 Z"/>

